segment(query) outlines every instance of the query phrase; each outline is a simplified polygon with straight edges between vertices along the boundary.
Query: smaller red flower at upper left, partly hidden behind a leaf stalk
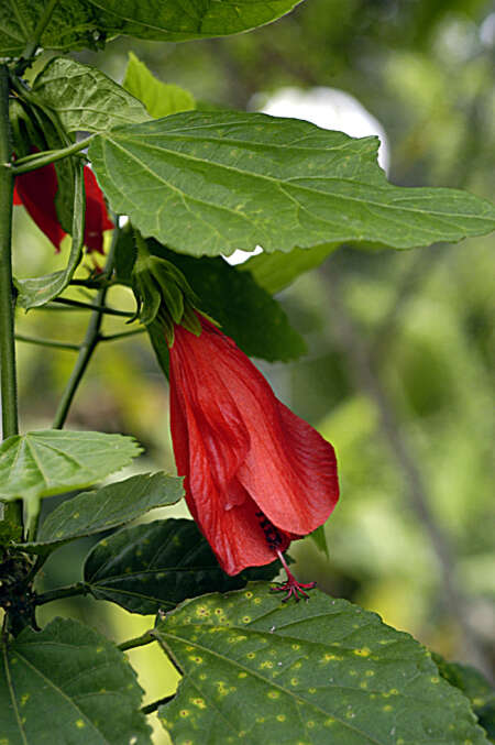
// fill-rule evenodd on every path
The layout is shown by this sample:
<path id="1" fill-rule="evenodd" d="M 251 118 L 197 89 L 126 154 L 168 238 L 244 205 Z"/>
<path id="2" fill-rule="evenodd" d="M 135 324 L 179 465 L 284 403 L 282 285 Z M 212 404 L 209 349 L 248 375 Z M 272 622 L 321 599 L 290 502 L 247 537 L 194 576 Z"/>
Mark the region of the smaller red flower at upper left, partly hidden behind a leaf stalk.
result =
<path id="1" fill-rule="evenodd" d="M 98 251 L 103 253 L 103 230 L 114 228 L 108 217 L 103 194 L 97 184 L 91 168 L 85 165 L 85 245 L 88 253 Z M 58 222 L 55 208 L 55 196 L 58 189 L 57 174 L 53 163 L 42 168 L 29 171 L 15 178 L 14 205 L 24 205 L 37 227 L 52 241 L 56 251 L 61 250 L 61 243 L 65 237 Z"/>

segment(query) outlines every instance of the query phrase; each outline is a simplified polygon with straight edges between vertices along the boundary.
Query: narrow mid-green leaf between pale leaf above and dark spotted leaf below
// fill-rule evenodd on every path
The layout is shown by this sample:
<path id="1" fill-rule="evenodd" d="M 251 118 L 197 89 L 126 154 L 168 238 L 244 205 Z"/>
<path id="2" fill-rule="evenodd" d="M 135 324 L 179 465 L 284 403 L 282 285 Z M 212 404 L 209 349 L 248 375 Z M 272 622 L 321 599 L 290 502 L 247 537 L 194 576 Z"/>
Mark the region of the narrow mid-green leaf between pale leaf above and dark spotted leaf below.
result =
<path id="1" fill-rule="evenodd" d="M 183 480 L 166 473 L 141 473 L 67 500 L 42 523 L 36 541 L 24 544 L 31 554 L 48 554 L 74 538 L 120 527 L 150 510 L 178 502 Z"/>

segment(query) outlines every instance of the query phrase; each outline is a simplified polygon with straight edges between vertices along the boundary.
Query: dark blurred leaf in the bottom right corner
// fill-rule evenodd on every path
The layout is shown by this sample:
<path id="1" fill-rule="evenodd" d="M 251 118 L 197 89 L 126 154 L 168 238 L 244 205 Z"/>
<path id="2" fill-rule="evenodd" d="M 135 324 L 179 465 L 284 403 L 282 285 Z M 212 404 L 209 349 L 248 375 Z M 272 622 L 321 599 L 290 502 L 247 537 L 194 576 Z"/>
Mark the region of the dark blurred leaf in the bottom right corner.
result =
<path id="1" fill-rule="evenodd" d="M 473 711 L 490 742 L 495 743 L 495 690 L 486 678 L 471 665 L 448 662 L 441 655 L 431 654 L 439 672 L 471 701 Z"/>

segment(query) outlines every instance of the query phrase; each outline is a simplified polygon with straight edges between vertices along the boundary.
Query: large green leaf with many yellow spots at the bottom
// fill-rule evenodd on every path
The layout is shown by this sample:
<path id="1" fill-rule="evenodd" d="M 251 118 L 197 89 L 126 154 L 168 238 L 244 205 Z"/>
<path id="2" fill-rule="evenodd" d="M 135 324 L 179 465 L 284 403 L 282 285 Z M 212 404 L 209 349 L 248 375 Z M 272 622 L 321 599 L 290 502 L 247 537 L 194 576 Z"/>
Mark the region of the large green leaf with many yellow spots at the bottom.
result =
<path id="1" fill-rule="evenodd" d="M 184 603 L 152 632 L 184 678 L 160 716 L 177 745 L 486 745 L 428 651 L 377 615 L 266 584 Z"/>

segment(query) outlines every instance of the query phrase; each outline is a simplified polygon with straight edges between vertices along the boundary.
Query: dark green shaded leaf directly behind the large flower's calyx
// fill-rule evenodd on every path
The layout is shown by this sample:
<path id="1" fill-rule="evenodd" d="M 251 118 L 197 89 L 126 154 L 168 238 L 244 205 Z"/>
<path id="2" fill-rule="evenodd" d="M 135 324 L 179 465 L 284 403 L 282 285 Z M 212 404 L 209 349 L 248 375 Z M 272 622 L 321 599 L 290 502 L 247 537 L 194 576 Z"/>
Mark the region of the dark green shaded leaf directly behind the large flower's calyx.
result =
<path id="1" fill-rule="evenodd" d="M 174 263 L 200 299 L 200 308 L 251 357 L 288 361 L 305 354 L 302 337 L 289 325 L 282 306 L 248 272 L 223 259 L 193 259 L 148 240 L 151 253 Z"/>

